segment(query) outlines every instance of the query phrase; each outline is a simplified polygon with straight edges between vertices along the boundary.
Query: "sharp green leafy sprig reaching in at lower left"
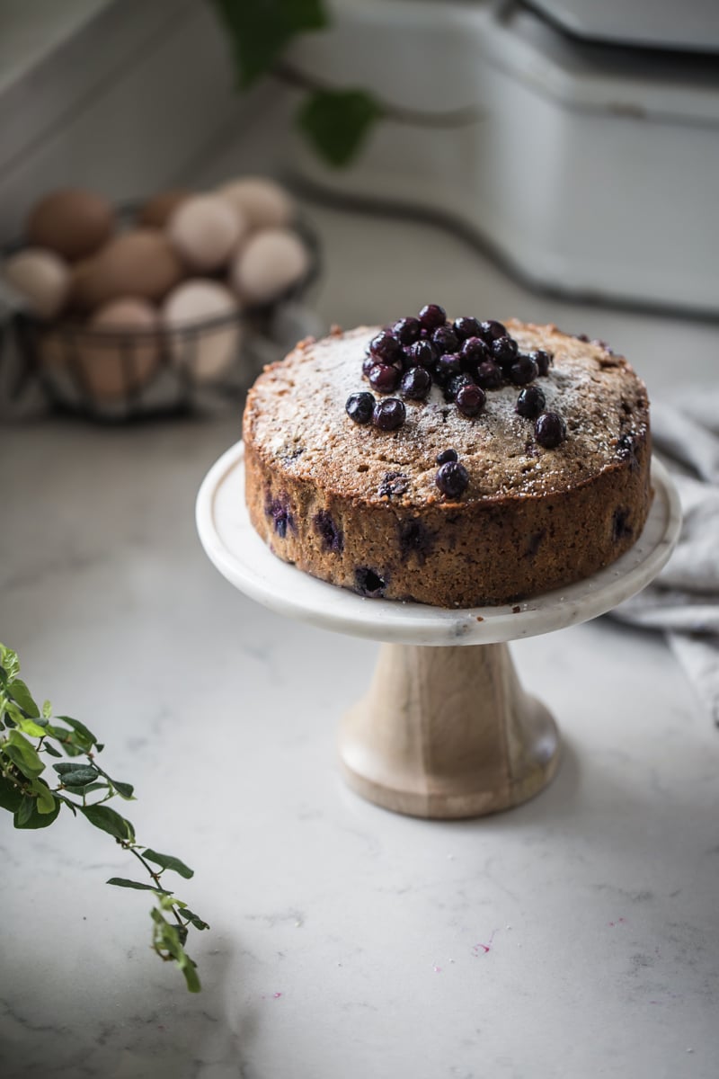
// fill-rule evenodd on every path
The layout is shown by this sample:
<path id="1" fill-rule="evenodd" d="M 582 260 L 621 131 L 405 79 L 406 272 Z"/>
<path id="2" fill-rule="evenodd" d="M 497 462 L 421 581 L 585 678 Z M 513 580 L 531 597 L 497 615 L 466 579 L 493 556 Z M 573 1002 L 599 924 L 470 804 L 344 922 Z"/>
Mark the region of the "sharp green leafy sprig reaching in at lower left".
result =
<path id="1" fill-rule="evenodd" d="M 52 824 L 66 807 L 73 817 L 84 817 L 133 855 L 152 884 L 126 877 L 111 877 L 108 884 L 153 893 L 152 948 L 161 959 L 174 961 L 190 992 L 198 993 L 197 967 L 184 944 L 191 926 L 201 930 L 209 926 L 166 888 L 164 880 L 167 872 L 189 880 L 193 871 L 174 855 L 160 853 L 137 842 L 132 822 L 107 805 L 117 796 L 135 801 L 133 786 L 111 778 L 97 763 L 97 754 L 105 747 L 92 730 L 70 715 L 53 718 L 49 700 L 38 708 L 18 674 L 17 654 L 0 644 L 0 809 L 13 815 L 15 828 L 38 829 Z M 51 776 L 45 754 L 60 762 L 53 764 L 54 786 L 44 778 Z"/>

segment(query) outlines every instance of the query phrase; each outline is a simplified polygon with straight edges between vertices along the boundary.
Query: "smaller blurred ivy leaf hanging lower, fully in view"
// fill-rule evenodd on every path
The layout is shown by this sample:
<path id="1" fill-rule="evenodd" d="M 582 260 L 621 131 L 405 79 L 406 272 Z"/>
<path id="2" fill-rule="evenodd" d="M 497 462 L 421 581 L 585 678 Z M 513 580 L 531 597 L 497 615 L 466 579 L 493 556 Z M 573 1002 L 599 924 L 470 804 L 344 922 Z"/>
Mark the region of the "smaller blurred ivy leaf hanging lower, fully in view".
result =
<path id="1" fill-rule="evenodd" d="M 319 155 L 335 168 L 359 152 L 385 109 L 363 90 L 318 90 L 298 112 L 298 124 Z"/>

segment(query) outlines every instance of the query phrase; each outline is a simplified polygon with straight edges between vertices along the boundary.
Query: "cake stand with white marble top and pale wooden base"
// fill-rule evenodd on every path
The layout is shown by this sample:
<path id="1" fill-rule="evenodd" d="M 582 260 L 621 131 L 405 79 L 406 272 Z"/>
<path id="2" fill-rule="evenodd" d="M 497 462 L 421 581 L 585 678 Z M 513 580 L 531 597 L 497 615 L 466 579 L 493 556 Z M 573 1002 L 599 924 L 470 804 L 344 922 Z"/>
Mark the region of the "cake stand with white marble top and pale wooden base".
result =
<path id="1" fill-rule="evenodd" d="M 349 786 L 397 812 L 479 817 L 533 797 L 559 761 L 554 720 L 522 688 L 507 642 L 605 614 L 659 573 L 681 518 L 656 460 L 651 475 L 652 508 L 631 550 L 592 577 L 513 606 L 364 599 L 282 562 L 250 524 L 241 442 L 207 474 L 197 530 L 220 573 L 251 599 L 322 629 L 385 642 L 369 693 L 340 729 Z"/>

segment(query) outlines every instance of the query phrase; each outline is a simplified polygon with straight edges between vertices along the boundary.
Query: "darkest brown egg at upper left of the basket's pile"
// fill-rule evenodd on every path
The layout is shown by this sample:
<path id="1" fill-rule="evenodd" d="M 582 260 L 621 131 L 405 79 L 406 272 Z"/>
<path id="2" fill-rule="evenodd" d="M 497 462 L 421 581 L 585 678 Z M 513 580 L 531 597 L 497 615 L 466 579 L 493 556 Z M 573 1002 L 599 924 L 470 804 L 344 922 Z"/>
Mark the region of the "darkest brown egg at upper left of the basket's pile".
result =
<path id="1" fill-rule="evenodd" d="M 45 195 L 31 209 L 25 233 L 36 247 L 49 247 L 70 261 L 86 258 L 112 235 L 114 211 L 107 199 L 80 188 Z"/>

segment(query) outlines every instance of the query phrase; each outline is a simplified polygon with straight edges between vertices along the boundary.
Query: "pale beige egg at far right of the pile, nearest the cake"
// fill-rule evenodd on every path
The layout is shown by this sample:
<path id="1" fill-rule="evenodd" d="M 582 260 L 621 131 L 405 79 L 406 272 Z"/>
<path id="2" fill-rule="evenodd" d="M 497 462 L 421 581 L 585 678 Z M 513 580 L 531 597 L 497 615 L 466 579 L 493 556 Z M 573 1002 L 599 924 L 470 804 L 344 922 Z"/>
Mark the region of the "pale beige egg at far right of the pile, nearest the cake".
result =
<path id="1" fill-rule="evenodd" d="M 240 300 L 268 303 L 305 276 L 309 256 L 289 229 L 263 229 L 235 257 L 230 279 Z"/>

